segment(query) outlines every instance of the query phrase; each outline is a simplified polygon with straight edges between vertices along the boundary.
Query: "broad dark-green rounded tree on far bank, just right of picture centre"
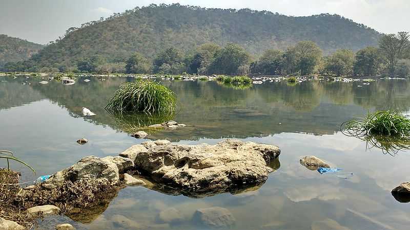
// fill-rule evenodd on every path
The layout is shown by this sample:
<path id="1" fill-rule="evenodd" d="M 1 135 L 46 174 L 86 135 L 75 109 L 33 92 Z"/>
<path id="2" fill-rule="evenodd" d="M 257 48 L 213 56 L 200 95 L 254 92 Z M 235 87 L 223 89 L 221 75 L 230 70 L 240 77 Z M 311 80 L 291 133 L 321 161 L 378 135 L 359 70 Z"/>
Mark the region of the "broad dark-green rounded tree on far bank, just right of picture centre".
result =
<path id="1" fill-rule="evenodd" d="M 245 66 L 249 68 L 250 54 L 238 44 L 228 43 L 226 47 L 215 54 L 215 59 L 210 66 L 210 72 L 215 74 L 237 74 Z"/>

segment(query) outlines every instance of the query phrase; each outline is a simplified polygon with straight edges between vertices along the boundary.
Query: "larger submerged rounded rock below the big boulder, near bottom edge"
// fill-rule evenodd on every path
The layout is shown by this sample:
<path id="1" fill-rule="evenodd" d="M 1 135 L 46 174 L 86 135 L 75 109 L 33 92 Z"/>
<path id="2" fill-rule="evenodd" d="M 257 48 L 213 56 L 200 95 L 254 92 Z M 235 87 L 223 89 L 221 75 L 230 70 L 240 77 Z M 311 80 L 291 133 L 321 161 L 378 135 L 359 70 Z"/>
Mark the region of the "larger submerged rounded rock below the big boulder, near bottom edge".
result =
<path id="1" fill-rule="evenodd" d="M 230 227 L 235 224 L 235 217 L 232 213 L 217 206 L 198 209 L 194 213 L 193 220 L 209 227 Z"/>

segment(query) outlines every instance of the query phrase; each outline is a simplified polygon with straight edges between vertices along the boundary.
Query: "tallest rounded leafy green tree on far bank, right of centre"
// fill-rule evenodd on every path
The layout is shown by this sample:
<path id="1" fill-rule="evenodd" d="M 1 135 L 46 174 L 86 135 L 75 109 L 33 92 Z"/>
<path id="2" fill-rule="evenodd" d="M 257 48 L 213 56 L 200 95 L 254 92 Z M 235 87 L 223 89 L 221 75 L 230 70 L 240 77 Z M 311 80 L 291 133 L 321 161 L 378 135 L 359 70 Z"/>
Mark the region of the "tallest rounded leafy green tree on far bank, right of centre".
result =
<path id="1" fill-rule="evenodd" d="M 300 41 L 295 45 L 296 71 L 301 75 L 312 74 L 322 56 L 322 50 L 313 41 Z"/>

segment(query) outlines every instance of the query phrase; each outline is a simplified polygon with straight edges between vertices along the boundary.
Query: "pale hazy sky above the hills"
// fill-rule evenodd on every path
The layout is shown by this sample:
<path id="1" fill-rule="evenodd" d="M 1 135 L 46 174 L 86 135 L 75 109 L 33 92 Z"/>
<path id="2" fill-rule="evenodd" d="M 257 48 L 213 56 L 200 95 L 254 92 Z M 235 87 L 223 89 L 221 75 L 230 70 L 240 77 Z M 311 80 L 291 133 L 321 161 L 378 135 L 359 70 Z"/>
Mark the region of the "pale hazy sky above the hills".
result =
<path id="1" fill-rule="evenodd" d="M 410 0 L 0 0 L 0 34 L 45 44 L 69 27 L 151 3 L 251 8 L 293 16 L 336 13 L 382 33 L 410 31 Z"/>

